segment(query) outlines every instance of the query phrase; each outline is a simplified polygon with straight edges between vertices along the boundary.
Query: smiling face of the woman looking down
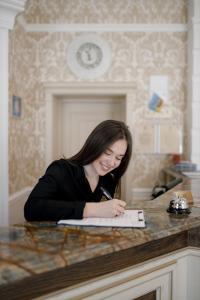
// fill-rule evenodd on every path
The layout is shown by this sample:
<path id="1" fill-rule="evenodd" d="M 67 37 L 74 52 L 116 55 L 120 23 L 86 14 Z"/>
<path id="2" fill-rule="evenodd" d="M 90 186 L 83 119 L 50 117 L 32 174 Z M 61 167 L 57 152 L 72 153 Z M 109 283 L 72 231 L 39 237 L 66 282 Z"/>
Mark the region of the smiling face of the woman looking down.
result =
<path id="1" fill-rule="evenodd" d="M 119 167 L 127 149 L 126 140 L 118 140 L 110 145 L 96 160 L 92 167 L 97 175 L 104 176 Z"/>

